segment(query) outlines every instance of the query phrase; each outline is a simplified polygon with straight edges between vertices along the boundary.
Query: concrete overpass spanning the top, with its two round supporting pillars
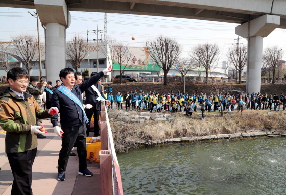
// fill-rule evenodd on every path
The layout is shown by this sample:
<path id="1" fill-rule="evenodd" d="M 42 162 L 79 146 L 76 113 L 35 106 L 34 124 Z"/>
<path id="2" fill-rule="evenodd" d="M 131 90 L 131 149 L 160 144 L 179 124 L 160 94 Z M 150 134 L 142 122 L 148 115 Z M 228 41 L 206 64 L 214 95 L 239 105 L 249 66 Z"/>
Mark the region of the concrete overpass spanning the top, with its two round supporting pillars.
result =
<path id="1" fill-rule="evenodd" d="M 275 28 L 286 28 L 284 0 L 0 0 L 0 6 L 37 10 L 41 22 L 46 27 L 46 64 L 49 80 L 56 80 L 58 72 L 55 74 L 55 69 L 64 68 L 66 64 L 65 29 L 70 23 L 69 11 L 237 23 L 239 26 L 236 27 L 235 33 L 248 38 L 247 92 L 260 91 L 263 37 L 268 36 Z"/>

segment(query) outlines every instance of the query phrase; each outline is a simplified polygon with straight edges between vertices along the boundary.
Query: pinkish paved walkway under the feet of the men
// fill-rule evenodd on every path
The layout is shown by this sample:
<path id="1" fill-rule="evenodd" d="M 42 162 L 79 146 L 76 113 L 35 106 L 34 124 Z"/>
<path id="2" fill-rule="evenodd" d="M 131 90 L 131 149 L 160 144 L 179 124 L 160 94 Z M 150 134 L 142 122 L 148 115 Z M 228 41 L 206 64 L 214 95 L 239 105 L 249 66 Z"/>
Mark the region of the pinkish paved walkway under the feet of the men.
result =
<path id="1" fill-rule="evenodd" d="M 49 120 L 43 120 L 47 128 L 46 139 L 38 139 L 37 156 L 33 164 L 32 189 L 34 195 L 70 195 L 70 194 L 100 194 L 99 163 L 88 163 L 92 177 L 78 175 L 78 156 L 70 156 L 66 180 L 58 181 L 57 166 L 61 149 L 61 138 L 56 136 Z M 0 131 L 0 194 L 10 195 L 13 176 L 5 153 L 5 135 Z M 91 135 L 92 136 L 92 135 Z M 76 150 L 74 150 L 77 153 Z"/>

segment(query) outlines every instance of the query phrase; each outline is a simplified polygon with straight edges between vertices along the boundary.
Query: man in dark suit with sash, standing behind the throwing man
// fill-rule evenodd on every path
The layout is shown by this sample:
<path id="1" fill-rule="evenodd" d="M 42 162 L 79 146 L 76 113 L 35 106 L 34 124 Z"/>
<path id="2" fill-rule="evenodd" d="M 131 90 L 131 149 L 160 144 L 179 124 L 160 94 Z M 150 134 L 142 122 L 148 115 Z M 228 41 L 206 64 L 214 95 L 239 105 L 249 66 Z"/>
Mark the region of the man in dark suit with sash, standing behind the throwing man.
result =
<path id="1" fill-rule="evenodd" d="M 92 72 L 91 77 L 93 75 L 96 75 L 97 72 Z M 103 94 L 102 86 L 99 84 L 94 84 L 94 86 L 98 89 L 100 92 L 101 96 L 106 100 L 106 97 Z M 100 115 L 100 107 L 101 107 L 101 101 L 98 101 L 98 94 L 92 87 L 89 87 L 87 90 L 85 90 L 85 104 L 91 104 L 92 108 L 91 109 L 85 109 L 86 116 L 88 120 L 91 120 L 92 114 L 94 118 L 94 136 L 99 136 L 99 126 L 98 126 L 98 120 L 99 120 L 99 115 Z M 89 132 L 92 132 L 92 129 L 90 128 L 90 123 L 86 125 L 86 135 L 89 136 Z"/>

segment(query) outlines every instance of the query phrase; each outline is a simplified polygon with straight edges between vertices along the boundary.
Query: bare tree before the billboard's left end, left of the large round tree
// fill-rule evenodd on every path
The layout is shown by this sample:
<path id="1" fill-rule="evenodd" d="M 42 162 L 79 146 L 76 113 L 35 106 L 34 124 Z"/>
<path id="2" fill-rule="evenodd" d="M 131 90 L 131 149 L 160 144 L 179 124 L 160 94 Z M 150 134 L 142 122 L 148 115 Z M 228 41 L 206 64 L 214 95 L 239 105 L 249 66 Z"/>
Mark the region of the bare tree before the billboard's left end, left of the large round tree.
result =
<path id="1" fill-rule="evenodd" d="M 121 76 L 125 68 L 128 66 L 128 63 L 131 62 L 133 54 L 129 51 L 128 44 L 123 44 L 120 41 L 114 42 L 112 50 L 113 50 L 112 53 L 114 54 L 114 61 L 118 63 L 120 68 L 120 83 L 121 83 Z"/>

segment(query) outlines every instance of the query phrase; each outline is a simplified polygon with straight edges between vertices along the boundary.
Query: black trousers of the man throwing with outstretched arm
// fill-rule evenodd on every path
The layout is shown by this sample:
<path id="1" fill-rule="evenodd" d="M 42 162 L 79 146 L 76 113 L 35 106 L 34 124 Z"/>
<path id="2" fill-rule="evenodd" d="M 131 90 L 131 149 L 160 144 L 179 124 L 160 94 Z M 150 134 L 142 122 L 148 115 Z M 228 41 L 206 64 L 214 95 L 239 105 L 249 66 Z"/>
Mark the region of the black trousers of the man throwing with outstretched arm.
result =
<path id="1" fill-rule="evenodd" d="M 65 172 L 69 154 L 71 149 L 73 149 L 75 143 L 77 145 L 77 152 L 79 157 L 79 169 L 86 169 L 86 128 L 84 126 L 85 124 L 75 127 L 62 128 L 64 133 L 62 137 L 62 149 L 60 150 L 58 161 L 59 173 L 62 174 Z"/>

